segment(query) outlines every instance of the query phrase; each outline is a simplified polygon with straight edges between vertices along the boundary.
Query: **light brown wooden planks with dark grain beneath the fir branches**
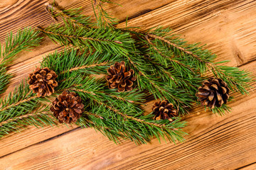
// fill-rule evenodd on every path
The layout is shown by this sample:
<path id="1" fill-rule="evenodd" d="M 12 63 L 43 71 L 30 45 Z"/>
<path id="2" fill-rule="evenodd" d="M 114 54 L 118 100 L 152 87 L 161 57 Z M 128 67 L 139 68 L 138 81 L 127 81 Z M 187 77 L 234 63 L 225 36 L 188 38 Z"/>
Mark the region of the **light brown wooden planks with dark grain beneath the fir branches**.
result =
<path id="1" fill-rule="evenodd" d="M 92 15 L 91 1 L 55 0 L 63 8 L 82 6 Z M 255 0 L 111 0 L 119 27 L 170 26 L 188 42 L 203 42 L 218 61 L 256 74 Z M 6 33 L 25 26 L 52 23 L 44 10 L 47 0 L 1 0 L 0 41 Z M 22 52 L 9 65 L 15 75 L 8 92 L 28 77 L 42 57 L 60 50 L 48 38 L 31 52 Z M 0 169 L 256 169 L 256 84 L 250 96 L 233 94 L 232 113 L 220 117 L 200 107 L 186 115 L 189 135 L 174 145 L 154 139 L 137 146 L 124 141 L 114 145 L 100 132 L 78 127 L 29 127 L 0 140 Z M 147 111 L 151 109 L 151 103 Z"/>

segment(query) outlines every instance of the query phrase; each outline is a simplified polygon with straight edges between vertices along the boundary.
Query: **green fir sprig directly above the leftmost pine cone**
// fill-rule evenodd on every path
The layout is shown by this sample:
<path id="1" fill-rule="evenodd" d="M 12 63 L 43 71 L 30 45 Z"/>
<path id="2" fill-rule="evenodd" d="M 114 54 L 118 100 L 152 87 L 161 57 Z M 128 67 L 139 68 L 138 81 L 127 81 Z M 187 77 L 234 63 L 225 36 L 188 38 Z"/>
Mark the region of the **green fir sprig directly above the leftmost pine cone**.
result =
<path id="1" fill-rule="evenodd" d="M 108 52 L 90 54 L 87 50 L 72 49 L 44 57 L 41 67 L 54 69 L 60 77 L 61 74 L 74 71 L 82 74 L 105 74 L 106 69 L 116 60 L 117 57 Z"/>

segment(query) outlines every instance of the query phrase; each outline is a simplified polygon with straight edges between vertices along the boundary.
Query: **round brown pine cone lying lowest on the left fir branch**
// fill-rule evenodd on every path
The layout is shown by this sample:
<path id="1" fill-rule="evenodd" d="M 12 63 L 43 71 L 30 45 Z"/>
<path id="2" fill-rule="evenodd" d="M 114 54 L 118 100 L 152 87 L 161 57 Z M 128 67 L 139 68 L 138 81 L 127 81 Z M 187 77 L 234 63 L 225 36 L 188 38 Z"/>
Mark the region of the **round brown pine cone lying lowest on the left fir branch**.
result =
<path id="1" fill-rule="evenodd" d="M 63 91 L 55 101 L 53 106 L 50 107 L 50 111 L 53 112 L 55 118 L 60 123 L 75 123 L 82 112 L 85 111 L 82 99 L 75 92 Z"/>

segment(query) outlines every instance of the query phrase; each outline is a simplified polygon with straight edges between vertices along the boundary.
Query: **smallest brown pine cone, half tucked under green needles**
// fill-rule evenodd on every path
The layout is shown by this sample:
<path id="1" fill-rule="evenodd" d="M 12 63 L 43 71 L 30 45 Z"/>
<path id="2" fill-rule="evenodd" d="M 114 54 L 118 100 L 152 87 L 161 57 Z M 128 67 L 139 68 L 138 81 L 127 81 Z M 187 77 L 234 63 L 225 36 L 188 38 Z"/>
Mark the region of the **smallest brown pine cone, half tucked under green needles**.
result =
<path id="1" fill-rule="evenodd" d="M 178 112 L 174 108 L 172 103 L 168 101 L 158 101 L 153 106 L 154 120 L 168 119 L 172 121 L 171 117 L 178 115 Z"/>

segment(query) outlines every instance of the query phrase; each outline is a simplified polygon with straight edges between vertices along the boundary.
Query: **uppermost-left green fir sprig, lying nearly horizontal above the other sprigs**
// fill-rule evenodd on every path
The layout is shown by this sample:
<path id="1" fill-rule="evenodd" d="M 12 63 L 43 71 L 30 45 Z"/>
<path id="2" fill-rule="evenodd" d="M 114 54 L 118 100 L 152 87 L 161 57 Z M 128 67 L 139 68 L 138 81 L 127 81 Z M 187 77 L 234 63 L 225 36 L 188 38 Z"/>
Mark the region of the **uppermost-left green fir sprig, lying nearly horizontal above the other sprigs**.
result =
<path id="1" fill-rule="evenodd" d="M 127 55 L 132 50 L 134 40 L 129 33 L 119 30 L 113 32 L 107 28 L 91 28 L 86 30 L 82 27 L 60 26 L 55 24 L 46 29 L 37 28 L 45 33 L 50 39 L 59 42 L 60 45 L 73 45 L 74 47 L 88 48 L 92 53 L 110 52 L 115 55 Z"/>

